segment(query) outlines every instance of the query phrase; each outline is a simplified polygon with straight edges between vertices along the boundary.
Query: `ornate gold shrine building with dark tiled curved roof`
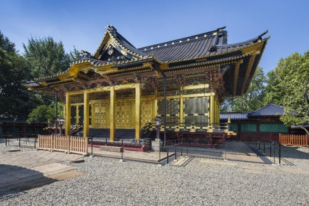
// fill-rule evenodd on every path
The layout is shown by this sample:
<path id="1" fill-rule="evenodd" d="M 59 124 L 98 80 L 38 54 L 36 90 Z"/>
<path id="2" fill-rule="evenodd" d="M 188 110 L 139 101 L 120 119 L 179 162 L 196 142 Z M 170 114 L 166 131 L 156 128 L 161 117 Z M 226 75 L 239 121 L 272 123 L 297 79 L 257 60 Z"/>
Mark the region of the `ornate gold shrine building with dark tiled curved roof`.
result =
<path id="1" fill-rule="evenodd" d="M 160 131 L 165 125 L 170 138 L 233 134 L 227 122 L 219 124 L 219 103 L 246 93 L 270 38 L 262 37 L 267 31 L 228 44 L 222 27 L 137 49 L 115 27 L 105 28 L 94 54 L 82 50 L 66 71 L 25 84 L 50 95 L 49 88 L 57 91 L 65 105 L 66 135 L 71 125 L 81 124 L 84 137 L 107 133 L 114 141 L 125 131 L 143 138 L 142 128 L 157 115 Z"/>

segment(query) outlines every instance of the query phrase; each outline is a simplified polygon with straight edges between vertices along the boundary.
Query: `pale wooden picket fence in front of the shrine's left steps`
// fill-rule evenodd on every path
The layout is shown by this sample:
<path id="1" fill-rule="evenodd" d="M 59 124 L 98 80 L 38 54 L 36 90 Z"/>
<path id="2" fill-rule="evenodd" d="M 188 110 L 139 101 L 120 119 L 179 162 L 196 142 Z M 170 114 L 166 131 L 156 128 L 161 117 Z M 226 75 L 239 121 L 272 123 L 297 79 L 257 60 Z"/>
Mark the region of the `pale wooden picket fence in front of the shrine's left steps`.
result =
<path id="1" fill-rule="evenodd" d="M 38 135 L 38 149 L 88 155 L 88 137 Z"/>

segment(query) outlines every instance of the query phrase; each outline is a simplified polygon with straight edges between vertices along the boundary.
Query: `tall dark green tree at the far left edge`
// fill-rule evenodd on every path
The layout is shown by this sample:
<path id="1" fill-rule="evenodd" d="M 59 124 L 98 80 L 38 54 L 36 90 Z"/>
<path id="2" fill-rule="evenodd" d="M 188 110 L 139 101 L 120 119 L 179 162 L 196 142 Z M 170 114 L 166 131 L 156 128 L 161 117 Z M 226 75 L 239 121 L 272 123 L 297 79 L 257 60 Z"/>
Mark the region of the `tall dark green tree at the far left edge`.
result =
<path id="1" fill-rule="evenodd" d="M 0 117 L 25 117 L 31 101 L 22 82 L 30 73 L 15 44 L 0 31 Z"/>

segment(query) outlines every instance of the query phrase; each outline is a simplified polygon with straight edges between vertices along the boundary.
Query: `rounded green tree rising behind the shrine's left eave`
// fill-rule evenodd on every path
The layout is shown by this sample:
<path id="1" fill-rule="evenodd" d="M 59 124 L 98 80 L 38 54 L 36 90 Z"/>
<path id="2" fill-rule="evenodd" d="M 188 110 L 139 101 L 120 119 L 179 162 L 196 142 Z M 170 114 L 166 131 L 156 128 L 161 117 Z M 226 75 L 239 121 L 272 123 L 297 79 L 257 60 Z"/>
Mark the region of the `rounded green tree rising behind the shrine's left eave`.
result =
<path id="1" fill-rule="evenodd" d="M 31 37 L 23 48 L 32 78 L 52 76 L 70 67 L 70 58 L 64 51 L 63 43 L 55 42 L 51 36 L 42 39 Z"/>

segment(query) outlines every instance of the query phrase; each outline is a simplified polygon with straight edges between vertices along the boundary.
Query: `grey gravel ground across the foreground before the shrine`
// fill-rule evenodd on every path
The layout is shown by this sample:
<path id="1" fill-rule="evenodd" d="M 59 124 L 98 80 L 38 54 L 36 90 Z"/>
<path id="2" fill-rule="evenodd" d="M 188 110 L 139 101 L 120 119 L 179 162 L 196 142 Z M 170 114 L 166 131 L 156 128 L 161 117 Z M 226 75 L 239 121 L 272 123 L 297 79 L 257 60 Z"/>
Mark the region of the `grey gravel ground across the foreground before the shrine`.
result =
<path id="1" fill-rule="evenodd" d="M 63 162 L 86 175 L 28 191 L 0 191 L 0 205 L 309 205 L 308 175 L 273 170 L 248 174 L 241 166 L 269 165 L 201 160 L 223 162 L 191 158 L 180 167 L 99 157 Z"/>

